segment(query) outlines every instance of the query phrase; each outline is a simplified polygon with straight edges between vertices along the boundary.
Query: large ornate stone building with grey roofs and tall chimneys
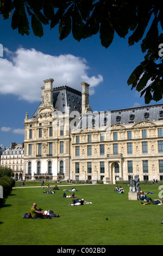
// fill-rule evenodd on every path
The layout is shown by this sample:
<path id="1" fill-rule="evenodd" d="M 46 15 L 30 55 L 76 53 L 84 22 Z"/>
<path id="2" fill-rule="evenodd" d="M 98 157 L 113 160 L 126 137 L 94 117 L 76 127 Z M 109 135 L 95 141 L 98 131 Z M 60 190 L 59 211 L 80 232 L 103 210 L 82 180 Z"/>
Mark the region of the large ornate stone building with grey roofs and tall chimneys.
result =
<path id="1" fill-rule="evenodd" d="M 93 112 L 89 84 L 81 93 L 53 81 L 24 120 L 26 179 L 163 180 L 163 104 Z"/>

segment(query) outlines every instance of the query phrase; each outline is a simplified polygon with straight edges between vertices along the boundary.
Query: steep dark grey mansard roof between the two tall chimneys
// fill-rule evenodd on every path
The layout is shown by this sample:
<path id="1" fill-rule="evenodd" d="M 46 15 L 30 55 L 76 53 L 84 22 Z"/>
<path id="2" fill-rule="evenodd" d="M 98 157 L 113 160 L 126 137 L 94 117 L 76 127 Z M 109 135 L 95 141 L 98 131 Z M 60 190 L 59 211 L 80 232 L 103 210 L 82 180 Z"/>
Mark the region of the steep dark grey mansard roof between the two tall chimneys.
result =
<path id="1" fill-rule="evenodd" d="M 41 103 L 40 103 L 41 105 Z M 39 105 L 39 107 L 40 107 Z M 82 112 L 82 93 L 68 86 L 53 88 L 53 106 L 57 111 L 67 113 L 67 107 L 70 105 L 70 112 Z M 37 117 L 36 109 L 32 118 Z"/>

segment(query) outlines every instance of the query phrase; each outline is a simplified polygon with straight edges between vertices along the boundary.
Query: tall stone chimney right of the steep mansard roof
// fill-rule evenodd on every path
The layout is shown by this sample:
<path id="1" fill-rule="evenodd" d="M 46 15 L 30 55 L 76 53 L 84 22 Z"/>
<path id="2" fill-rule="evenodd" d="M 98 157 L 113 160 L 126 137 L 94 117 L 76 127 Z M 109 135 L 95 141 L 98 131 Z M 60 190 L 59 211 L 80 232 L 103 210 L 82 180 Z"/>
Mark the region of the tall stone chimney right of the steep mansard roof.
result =
<path id="1" fill-rule="evenodd" d="M 82 113 L 86 113 L 90 110 L 89 105 L 89 86 L 90 84 L 82 82 Z"/>

